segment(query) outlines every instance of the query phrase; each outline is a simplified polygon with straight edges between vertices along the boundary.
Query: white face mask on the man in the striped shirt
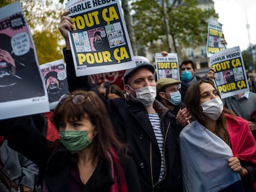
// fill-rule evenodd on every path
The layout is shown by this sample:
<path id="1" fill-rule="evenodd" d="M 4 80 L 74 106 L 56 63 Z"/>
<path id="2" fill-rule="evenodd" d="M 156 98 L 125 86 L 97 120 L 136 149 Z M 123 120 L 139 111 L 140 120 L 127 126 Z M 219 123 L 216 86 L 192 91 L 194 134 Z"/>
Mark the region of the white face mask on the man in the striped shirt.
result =
<path id="1" fill-rule="evenodd" d="M 130 87 L 130 89 L 134 90 Z M 134 90 L 136 93 L 136 98 L 132 98 L 136 101 L 140 101 L 144 106 L 150 106 L 155 101 L 156 98 L 156 86 L 144 86 L 142 88 Z"/>

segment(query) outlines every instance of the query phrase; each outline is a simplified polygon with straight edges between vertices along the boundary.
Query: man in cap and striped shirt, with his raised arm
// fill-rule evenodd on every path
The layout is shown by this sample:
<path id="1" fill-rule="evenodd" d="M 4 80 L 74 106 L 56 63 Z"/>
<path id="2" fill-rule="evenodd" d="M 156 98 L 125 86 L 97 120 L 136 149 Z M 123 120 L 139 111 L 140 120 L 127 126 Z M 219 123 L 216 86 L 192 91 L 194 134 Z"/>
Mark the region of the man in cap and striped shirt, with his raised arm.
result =
<path id="1" fill-rule="evenodd" d="M 75 77 L 69 46 L 68 30 L 72 19 L 62 15 L 59 30 L 66 40 L 64 57 L 67 64 L 69 91 L 90 89 L 82 82 L 88 77 Z M 135 57 L 137 66 L 124 74 L 127 99 L 104 99 L 119 138 L 127 143 L 133 157 L 142 192 L 182 191 L 179 133 L 181 125 L 176 116 L 155 100 L 155 67 L 145 57 Z M 128 186 L 129 191 L 129 186 Z M 139 191 L 139 190 L 138 190 Z"/>

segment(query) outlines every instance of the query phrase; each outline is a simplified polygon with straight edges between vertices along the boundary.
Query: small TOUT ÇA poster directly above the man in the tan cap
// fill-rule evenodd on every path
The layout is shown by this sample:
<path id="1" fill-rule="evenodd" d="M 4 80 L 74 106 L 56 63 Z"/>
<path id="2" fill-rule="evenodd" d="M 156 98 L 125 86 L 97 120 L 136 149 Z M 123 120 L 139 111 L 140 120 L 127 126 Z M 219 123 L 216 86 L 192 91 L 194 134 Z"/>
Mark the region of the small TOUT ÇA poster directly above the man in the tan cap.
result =
<path id="1" fill-rule="evenodd" d="M 168 53 L 163 56 L 161 53 L 155 54 L 157 80 L 161 78 L 174 78 L 179 80 L 179 62 L 176 53 Z"/>

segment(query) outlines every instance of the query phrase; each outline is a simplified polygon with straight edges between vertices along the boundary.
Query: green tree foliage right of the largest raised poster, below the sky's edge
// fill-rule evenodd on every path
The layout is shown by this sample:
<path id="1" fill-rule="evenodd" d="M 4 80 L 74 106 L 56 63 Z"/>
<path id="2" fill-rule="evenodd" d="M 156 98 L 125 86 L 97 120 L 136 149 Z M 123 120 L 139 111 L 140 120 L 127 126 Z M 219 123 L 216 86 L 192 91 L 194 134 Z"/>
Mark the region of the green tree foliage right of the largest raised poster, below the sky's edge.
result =
<path id="1" fill-rule="evenodd" d="M 135 14 L 135 38 L 140 44 L 147 44 L 166 35 L 163 17 L 162 1 L 140 0 L 132 2 Z M 166 0 L 165 0 L 166 1 Z M 214 9 L 201 9 L 197 0 L 166 1 L 166 12 L 170 34 L 177 44 L 183 46 L 198 46 L 207 40 L 208 19 L 217 18 Z M 167 47 L 166 47 L 167 48 Z M 166 50 L 166 49 L 165 49 Z"/>

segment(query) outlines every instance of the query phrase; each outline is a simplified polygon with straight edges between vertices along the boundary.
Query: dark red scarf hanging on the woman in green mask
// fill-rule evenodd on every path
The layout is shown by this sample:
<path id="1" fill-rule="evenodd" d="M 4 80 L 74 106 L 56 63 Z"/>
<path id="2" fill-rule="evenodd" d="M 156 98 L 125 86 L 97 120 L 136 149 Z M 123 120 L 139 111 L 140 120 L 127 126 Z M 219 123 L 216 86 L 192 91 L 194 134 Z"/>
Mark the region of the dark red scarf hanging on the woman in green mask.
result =
<path id="1" fill-rule="evenodd" d="M 111 162 L 111 173 L 113 175 L 114 184 L 111 186 L 111 192 L 127 192 L 126 177 L 122 170 L 122 165 L 116 155 L 116 151 L 111 148 L 108 152 L 108 157 Z"/>

